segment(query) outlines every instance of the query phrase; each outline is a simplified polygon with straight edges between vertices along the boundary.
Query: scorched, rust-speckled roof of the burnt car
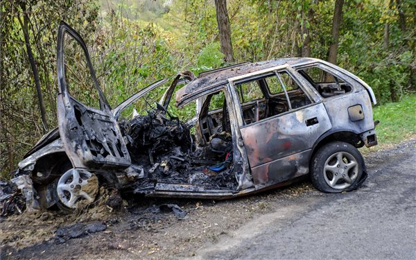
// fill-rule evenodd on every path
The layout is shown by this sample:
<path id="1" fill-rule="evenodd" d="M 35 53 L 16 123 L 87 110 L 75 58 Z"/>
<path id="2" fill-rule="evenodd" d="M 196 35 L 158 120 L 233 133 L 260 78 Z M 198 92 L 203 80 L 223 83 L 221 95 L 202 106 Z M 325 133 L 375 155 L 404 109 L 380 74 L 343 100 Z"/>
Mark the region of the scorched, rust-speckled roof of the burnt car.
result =
<path id="1" fill-rule="evenodd" d="M 215 92 L 217 89 L 220 89 L 220 87 L 227 84 L 229 78 L 277 67 L 283 64 L 296 67 L 318 61 L 320 60 L 314 58 L 281 58 L 278 60 L 266 60 L 262 62 L 244 62 L 229 67 L 205 71 L 200 73 L 196 80 L 193 80 L 181 89 L 178 89 L 176 92 L 176 105 L 182 107 L 194 98 L 200 96 L 200 94 Z"/>

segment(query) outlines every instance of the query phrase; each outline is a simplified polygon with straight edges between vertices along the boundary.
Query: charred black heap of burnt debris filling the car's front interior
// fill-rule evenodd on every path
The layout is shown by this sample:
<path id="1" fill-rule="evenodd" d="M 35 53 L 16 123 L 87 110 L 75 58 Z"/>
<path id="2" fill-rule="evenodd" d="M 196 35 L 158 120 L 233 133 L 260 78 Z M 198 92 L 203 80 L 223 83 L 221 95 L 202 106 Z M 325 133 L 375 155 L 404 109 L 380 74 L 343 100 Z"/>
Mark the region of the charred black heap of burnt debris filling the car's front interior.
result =
<path id="1" fill-rule="evenodd" d="M 132 164 L 144 169 L 135 193 L 146 193 L 157 182 L 235 189 L 231 135 L 224 132 L 212 138 L 211 143 L 220 149 L 200 147 L 189 127 L 163 110 L 136 116 L 129 128 L 126 136 Z"/>

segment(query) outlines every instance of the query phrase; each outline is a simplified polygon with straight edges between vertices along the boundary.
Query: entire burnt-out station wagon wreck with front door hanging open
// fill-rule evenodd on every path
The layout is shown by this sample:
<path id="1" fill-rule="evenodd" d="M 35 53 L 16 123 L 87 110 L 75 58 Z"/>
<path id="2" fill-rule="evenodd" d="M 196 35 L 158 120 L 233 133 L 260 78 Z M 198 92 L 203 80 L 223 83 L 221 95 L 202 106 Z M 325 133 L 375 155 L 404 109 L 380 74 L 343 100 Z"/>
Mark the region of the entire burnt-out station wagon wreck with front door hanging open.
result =
<path id="1" fill-rule="evenodd" d="M 83 49 L 99 109 L 70 94 L 66 37 Z M 57 70 L 58 128 L 26 153 L 13 179 L 28 209 L 71 211 L 94 202 L 103 183 L 149 197 L 224 199 L 310 175 L 320 191 L 349 191 L 366 177 L 357 148 L 377 144 L 372 89 L 318 59 L 245 62 L 198 77 L 184 71 L 112 110 L 85 42 L 62 23 Z M 151 110 L 122 116 L 166 83 Z M 176 107 L 194 103 L 195 116 L 180 120 L 169 112 L 171 101 Z"/>

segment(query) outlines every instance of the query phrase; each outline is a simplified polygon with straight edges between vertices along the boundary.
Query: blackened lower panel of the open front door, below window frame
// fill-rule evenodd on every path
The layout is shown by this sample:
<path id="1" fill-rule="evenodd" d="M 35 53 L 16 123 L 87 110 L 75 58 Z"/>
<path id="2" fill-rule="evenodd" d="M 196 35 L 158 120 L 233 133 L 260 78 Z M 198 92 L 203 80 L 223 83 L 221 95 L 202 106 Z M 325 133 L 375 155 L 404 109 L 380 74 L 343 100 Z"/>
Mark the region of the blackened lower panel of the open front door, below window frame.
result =
<path id="1" fill-rule="evenodd" d="M 110 111 L 85 107 L 67 94 L 58 94 L 58 121 L 62 144 L 75 168 L 126 168 L 130 155 Z"/>

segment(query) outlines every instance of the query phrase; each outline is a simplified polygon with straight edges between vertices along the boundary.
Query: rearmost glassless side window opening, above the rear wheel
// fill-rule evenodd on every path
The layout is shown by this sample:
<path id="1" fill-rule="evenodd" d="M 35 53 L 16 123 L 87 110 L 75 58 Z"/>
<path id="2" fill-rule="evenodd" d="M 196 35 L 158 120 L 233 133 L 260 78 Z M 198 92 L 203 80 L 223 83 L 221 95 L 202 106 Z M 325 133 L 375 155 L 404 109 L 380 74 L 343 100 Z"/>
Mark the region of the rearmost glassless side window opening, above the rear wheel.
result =
<path id="1" fill-rule="evenodd" d="M 328 71 L 320 67 L 307 67 L 298 71 L 324 97 L 338 96 L 352 91 L 352 87 Z"/>

